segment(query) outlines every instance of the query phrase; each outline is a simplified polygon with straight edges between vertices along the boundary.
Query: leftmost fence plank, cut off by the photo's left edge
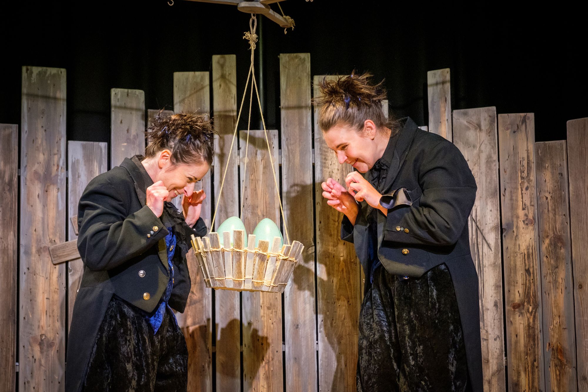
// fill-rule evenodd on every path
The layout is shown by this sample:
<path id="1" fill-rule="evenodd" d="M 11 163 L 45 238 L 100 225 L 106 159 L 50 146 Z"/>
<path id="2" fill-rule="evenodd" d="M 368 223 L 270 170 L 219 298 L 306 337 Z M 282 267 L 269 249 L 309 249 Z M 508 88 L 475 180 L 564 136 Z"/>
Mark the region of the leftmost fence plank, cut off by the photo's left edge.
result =
<path id="1" fill-rule="evenodd" d="M 1 392 L 16 388 L 16 255 L 18 254 L 18 125 L 0 124 Z"/>

